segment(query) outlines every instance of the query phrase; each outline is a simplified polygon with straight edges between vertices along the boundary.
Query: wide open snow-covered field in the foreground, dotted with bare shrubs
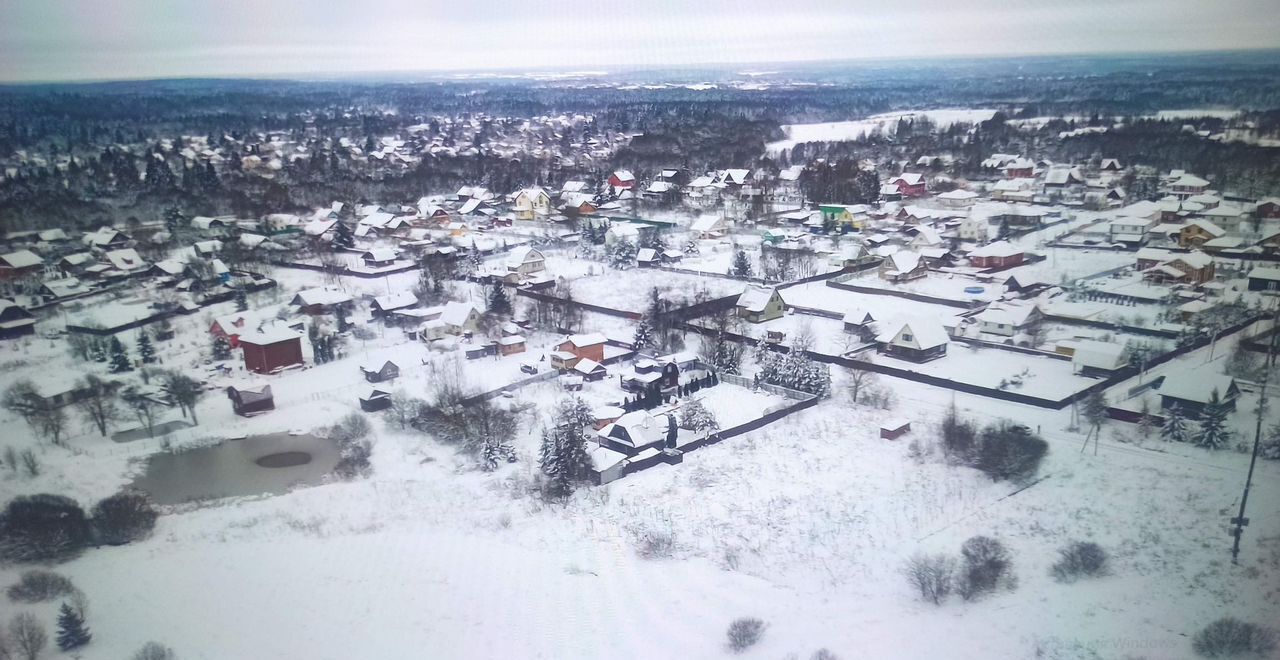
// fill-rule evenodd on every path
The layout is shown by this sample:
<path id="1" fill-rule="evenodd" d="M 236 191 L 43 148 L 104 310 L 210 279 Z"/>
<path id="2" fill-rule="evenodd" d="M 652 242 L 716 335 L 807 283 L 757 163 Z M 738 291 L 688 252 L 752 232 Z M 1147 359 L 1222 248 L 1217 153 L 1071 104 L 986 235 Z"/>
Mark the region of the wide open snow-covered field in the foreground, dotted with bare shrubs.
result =
<path id="1" fill-rule="evenodd" d="M 86 660 L 151 638 L 195 659 L 723 657 L 723 629 L 744 615 L 769 623 L 745 657 L 818 647 L 844 657 L 1188 657 L 1187 636 L 1206 620 L 1276 608 L 1280 514 L 1251 509 L 1238 567 L 1222 531 L 1247 457 L 1110 435 L 1100 455 L 1082 454 L 1082 436 L 1064 430 L 1068 411 L 957 395 L 979 421 L 1016 416 L 1048 436 L 1047 478 L 1009 498 L 1011 485 L 915 457 L 909 440 L 929 436 L 951 395 L 897 390 L 916 428 L 900 441 L 876 437 L 890 413 L 823 404 L 556 507 L 525 491 L 527 453 L 481 473 L 429 437 L 383 426 L 370 480 L 164 515 L 150 540 L 58 570 L 92 601 Z M 319 422 L 346 409 L 311 412 Z M 44 453 L 59 468 L 86 462 Z M 109 475 L 83 475 L 72 492 L 106 495 L 119 483 Z M 1276 496 L 1280 471 L 1263 463 L 1254 501 Z M 636 536 L 654 530 L 675 540 L 671 558 L 636 553 Z M 1009 545 L 1018 590 L 922 604 L 897 572 L 904 558 L 955 554 L 978 533 Z M 1050 578 L 1056 549 L 1078 538 L 1111 550 L 1110 577 Z M 0 581 L 15 574 L 0 569 Z"/>

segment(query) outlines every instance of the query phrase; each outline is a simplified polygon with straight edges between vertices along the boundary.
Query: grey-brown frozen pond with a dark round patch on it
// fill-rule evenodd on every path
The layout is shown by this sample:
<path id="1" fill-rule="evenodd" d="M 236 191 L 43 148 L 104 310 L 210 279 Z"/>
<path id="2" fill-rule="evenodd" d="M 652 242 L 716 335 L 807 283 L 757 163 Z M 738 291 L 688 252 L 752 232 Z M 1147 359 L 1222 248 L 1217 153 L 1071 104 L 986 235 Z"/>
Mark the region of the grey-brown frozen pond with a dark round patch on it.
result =
<path id="1" fill-rule="evenodd" d="M 338 464 L 338 446 L 314 435 L 271 434 L 155 454 L 133 486 L 157 504 L 280 494 L 320 483 Z"/>

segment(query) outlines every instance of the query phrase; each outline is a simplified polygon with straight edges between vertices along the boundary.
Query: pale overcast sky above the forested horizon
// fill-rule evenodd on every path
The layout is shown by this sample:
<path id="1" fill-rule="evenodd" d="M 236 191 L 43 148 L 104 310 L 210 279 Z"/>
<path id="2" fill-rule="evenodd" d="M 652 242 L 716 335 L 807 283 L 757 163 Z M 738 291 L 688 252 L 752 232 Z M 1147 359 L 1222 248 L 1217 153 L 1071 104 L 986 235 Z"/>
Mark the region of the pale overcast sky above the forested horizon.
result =
<path id="1" fill-rule="evenodd" d="M 0 0 L 0 81 L 1277 47 L 1275 0 Z"/>

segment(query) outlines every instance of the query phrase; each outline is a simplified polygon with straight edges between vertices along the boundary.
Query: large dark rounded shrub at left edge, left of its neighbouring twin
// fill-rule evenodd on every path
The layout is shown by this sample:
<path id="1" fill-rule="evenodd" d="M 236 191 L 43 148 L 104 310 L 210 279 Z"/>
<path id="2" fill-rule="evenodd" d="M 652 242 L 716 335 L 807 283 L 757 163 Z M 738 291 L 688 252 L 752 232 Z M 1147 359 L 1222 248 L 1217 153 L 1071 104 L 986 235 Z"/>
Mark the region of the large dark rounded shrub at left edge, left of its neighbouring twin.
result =
<path id="1" fill-rule="evenodd" d="M 0 560 L 47 562 L 74 556 L 90 538 L 84 509 L 60 495 L 14 498 L 0 514 Z"/>

